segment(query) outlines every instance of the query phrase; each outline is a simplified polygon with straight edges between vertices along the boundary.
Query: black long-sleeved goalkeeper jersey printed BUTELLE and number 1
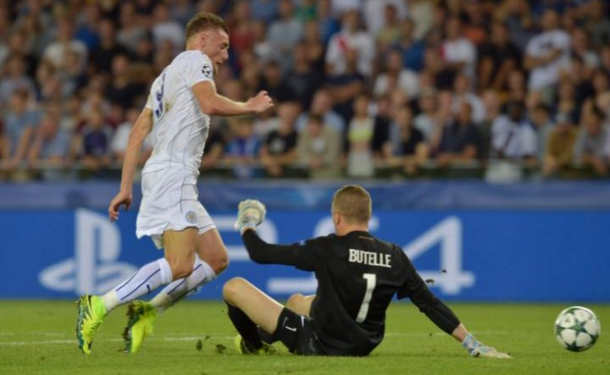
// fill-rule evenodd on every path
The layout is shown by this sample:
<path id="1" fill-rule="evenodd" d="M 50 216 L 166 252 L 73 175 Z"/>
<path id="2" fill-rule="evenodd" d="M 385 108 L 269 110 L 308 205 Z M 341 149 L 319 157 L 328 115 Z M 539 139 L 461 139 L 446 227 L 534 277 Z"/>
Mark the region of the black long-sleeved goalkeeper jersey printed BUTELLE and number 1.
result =
<path id="1" fill-rule="evenodd" d="M 292 265 L 315 273 L 318 289 L 310 315 L 326 354 L 367 355 L 375 349 L 383 339 L 386 309 L 395 294 L 410 297 L 446 332 L 459 324 L 429 291 L 402 249 L 368 232 L 286 246 L 267 244 L 247 230 L 243 240 L 257 263 Z M 449 326 L 443 327 L 439 319 L 449 319 Z"/>

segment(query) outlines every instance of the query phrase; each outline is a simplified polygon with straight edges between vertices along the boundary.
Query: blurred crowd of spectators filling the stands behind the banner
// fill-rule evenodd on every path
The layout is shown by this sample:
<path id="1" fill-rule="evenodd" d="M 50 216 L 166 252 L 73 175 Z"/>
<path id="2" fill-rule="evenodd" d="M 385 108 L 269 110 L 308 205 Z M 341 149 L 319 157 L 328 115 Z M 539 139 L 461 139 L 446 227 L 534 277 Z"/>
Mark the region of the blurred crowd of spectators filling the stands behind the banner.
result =
<path id="1" fill-rule="evenodd" d="M 230 29 L 219 92 L 276 103 L 214 118 L 204 171 L 609 174 L 603 0 L 0 0 L 0 179 L 120 170 L 197 11 Z"/>

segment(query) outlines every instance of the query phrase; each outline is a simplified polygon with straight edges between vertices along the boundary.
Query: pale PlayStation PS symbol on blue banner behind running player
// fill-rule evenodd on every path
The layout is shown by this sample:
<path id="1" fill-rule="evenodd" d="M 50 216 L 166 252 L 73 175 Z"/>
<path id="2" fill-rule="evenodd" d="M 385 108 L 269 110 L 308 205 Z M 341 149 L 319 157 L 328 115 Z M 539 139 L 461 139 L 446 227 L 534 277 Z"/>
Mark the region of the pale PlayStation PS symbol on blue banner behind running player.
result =
<path id="1" fill-rule="evenodd" d="M 128 263 L 118 262 L 121 235 L 105 215 L 78 209 L 75 212 L 74 258 L 44 269 L 40 283 L 59 292 L 101 294 L 136 272 Z"/>

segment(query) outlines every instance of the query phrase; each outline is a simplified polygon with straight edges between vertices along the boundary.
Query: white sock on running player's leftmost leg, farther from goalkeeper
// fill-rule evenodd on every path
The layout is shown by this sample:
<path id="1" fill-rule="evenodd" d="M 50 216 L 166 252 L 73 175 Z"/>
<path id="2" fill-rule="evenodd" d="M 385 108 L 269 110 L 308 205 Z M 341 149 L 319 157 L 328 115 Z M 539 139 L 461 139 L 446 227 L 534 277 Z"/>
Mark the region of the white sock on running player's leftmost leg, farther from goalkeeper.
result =
<path id="1" fill-rule="evenodd" d="M 172 269 L 165 258 L 143 266 L 129 279 L 102 296 L 106 311 L 137 299 L 172 281 Z"/>

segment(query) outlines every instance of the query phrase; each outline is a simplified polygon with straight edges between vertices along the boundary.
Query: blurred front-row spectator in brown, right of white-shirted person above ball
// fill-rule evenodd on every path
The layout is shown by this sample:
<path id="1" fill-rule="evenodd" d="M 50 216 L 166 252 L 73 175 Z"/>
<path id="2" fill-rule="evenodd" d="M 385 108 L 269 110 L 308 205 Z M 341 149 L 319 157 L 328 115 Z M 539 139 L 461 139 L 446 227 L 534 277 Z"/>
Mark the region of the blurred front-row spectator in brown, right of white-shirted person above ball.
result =
<path id="1" fill-rule="evenodd" d="M 573 126 L 570 116 L 563 113 L 557 115 L 555 122 L 545 145 L 542 169 L 544 176 L 553 176 L 556 172 L 566 170 L 573 166 L 574 162 L 574 145 L 578 130 Z"/>

